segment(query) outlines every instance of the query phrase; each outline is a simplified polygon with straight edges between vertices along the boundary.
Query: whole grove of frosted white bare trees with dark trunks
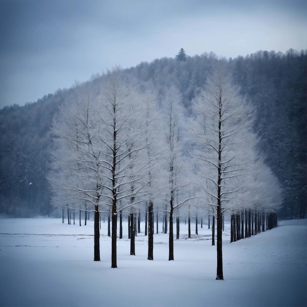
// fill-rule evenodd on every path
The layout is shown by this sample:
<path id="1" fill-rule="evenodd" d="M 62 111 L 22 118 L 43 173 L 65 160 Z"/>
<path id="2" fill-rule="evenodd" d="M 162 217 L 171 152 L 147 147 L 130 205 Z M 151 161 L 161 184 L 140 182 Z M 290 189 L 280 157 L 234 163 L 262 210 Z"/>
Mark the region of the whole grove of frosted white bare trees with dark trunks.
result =
<path id="1" fill-rule="evenodd" d="M 156 93 L 127 80 L 119 68 L 108 72 L 98 90 L 77 85 L 61 106 L 52 128 L 52 202 L 95 211 L 95 261 L 101 211 L 111 215 L 111 267 L 116 268 L 118 215 L 128 212 L 134 255 L 135 214 L 146 207 L 153 260 L 153 205 L 163 211 L 169 219 L 169 260 L 174 260 L 173 218 L 179 208 L 193 206 L 217 219 L 216 279 L 223 280 L 225 212 L 279 209 L 281 188 L 258 153 L 253 108 L 233 85 L 225 61 L 217 63 L 191 110 L 186 121 L 176 87 Z"/>

